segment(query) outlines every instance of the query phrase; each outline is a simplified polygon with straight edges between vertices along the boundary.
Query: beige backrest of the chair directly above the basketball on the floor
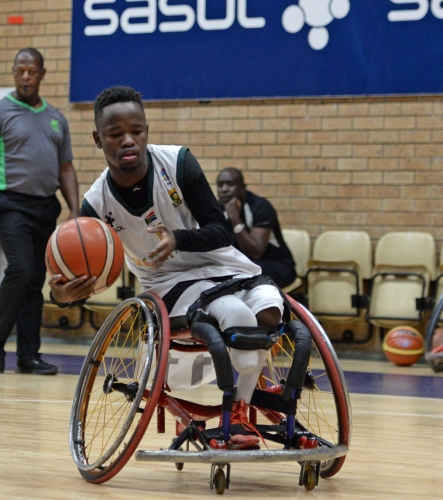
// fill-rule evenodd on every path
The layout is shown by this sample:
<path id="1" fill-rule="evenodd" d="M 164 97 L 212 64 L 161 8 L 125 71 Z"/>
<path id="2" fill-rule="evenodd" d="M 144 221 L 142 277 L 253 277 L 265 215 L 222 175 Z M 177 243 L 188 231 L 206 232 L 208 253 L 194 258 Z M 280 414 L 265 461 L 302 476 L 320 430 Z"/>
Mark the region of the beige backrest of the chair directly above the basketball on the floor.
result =
<path id="1" fill-rule="evenodd" d="M 386 233 L 375 248 L 374 265 L 424 266 L 429 279 L 436 277 L 437 249 L 431 233 L 398 231 Z"/>

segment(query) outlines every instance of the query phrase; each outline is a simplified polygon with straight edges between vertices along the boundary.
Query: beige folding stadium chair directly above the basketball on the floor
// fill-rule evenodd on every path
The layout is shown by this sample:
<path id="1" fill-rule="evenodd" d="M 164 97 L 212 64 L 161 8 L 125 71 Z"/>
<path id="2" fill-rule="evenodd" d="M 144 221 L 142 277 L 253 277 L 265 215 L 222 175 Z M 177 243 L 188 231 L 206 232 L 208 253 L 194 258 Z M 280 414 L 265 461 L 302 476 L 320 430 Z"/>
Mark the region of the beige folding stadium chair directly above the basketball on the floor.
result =
<path id="1" fill-rule="evenodd" d="M 420 323 L 436 276 L 432 234 L 391 232 L 375 249 L 367 320 L 382 328 Z"/>

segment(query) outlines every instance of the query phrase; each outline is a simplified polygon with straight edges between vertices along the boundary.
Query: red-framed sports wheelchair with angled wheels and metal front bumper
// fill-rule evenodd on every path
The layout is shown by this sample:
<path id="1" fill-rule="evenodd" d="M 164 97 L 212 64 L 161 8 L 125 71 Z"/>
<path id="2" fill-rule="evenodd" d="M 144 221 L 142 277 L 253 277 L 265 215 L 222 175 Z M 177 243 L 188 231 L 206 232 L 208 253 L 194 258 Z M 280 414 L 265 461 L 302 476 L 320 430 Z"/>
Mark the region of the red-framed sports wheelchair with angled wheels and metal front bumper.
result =
<path id="1" fill-rule="evenodd" d="M 74 396 L 69 443 L 83 478 L 98 484 L 114 477 L 142 438 L 145 443 L 155 431 L 166 433 L 166 412 L 174 417 L 175 425 L 169 425 L 172 429 L 165 447 L 138 450 L 135 459 L 172 462 L 179 471 L 187 462 L 209 464 L 210 488 L 217 494 L 229 488 L 231 464 L 239 462 L 298 462 L 299 485 L 307 490 L 320 477 L 335 475 L 351 439 L 346 383 L 318 321 L 290 296 L 287 301 L 291 319 L 305 325 L 312 342 L 302 373 L 296 366 L 297 339 L 287 325 L 269 348 L 249 407 L 249 421 L 263 441 L 257 450 L 210 446 L 214 439 L 227 441 L 229 432 L 251 433 L 240 425 L 230 429 L 229 390 L 225 388 L 222 403 L 214 406 L 177 398 L 169 391 L 169 351 L 208 351 L 183 318 L 170 319 L 165 304 L 153 293 L 141 293 L 118 305 L 93 340 Z M 285 386 L 294 374 L 301 380 L 300 387 L 289 391 L 288 397 Z M 217 383 L 220 388 L 218 374 Z M 154 414 L 156 429 L 151 422 Z M 211 419 L 217 419 L 215 426 L 208 425 Z"/>

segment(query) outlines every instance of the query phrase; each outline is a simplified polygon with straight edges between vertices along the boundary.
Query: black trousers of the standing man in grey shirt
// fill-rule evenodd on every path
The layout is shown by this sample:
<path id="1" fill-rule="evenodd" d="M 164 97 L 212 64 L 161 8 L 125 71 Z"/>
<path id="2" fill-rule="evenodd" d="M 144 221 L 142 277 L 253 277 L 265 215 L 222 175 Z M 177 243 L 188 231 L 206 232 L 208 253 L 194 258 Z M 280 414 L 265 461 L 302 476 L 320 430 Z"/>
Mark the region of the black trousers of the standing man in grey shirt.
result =
<path id="1" fill-rule="evenodd" d="M 45 249 L 60 210 L 55 195 L 0 192 L 0 245 L 8 262 L 0 285 L 0 355 L 14 325 L 19 358 L 40 349 Z"/>

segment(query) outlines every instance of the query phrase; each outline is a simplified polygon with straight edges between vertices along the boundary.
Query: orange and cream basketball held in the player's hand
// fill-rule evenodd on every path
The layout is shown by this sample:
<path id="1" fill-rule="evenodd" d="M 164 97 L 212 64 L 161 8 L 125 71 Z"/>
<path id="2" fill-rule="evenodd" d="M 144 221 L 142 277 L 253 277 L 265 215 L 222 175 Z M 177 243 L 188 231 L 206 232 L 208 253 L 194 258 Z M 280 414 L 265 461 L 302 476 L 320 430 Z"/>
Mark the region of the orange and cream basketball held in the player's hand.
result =
<path id="1" fill-rule="evenodd" d="M 124 250 L 118 234 L 99 219 L 78 217 L 61 224 L 46 246 L 46 268 L 61 274 L 61 283 L 95 276 L 94 293 L 113 285 L 123 269 Z"/>

